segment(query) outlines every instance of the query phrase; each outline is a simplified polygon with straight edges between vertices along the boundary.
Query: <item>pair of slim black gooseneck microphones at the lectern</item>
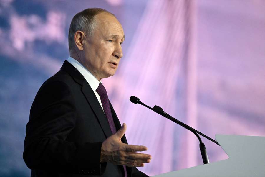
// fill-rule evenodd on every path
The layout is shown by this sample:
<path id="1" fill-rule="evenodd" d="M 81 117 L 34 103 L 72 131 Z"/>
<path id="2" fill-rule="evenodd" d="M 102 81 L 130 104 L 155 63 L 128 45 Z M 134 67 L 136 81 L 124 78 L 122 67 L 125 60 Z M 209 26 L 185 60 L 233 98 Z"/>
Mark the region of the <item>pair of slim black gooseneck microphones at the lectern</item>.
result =
<path id="1" fill-rule="evenodd" d="M 193 129 L 192 127 L 190 127 L 190 126 L 184 124 L 183 122 L 180 122 L 179 120 L 175 119 L 174 117 L 170 116 L 169 114 L 167 114 L 166 112 L 163 111 L 163 108 L 161 108 L 159 106 L 156 106 L 155 105 L 153 108 L 151 108 L 151 107 L 145 105 L 144 103 L 142 103 L 140 101 L 140 99 L 137 98 L 137 97 L 135 97 L 135 96 L 131 96 L 130 97 L 130 101 L 132 103 L 134 103 L 134 104 L 141 104 L 141 105 L 143 105 L 143 106 L 145 106 L 145 107 L 153 110 L 154 112 L 162 115 L 163 117 L 165 117 L 165 118 L 167 118 L 167 119 L 169 119 L 169 120 L 171 120 L 171 121 L 179 124 L 180 126 L 182 126 L 182 127 L 186 128 L 186 129 L 190 130 L 191 132 L 193 132 L 196 135 L 196 137 L 198 138 L 199 142 L 200 142 L 200 151 L 201 151 L 201 156 L 202 156 L 202 159 L 203 159 L 203 164 L 210 163 L 209 162 L 208 155 L 207 155 L 206 147 L 205 147 L 204 143 L 201 141 L 201 138 L 199 137 L 198 134 L 202 135 L 203 137 L 206 137 L 208 140 L 211 140 L 212 142 L 214 142 L 217 145 L 219 145 L 219 143 L 217 141 L 211 139 L 210 137 L 208 137 L 208 136 L 204 135 L 203 133 L 199 132 L 198 130 Z"/>

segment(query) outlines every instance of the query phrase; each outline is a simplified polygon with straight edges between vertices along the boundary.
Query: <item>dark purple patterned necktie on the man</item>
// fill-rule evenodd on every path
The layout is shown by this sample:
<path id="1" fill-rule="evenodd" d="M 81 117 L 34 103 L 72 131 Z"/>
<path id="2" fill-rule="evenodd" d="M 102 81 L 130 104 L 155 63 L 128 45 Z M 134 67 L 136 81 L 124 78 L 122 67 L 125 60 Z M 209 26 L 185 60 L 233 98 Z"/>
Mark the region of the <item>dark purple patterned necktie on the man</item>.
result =
<path id="1" fill-rule="evenodd" d="M 114 121 L 113 121 L 113 118 L 112 118 L 112 113 L 111 113 L 111 110 L 110 110 L 110 102 L 109 102 L 109 99 L 108 99 L 107 91 L 106 91 L 106 89 L 105 89 L 105 87 L 103 86 L 102 83 L 99 84 L 99 86 L 97 87 L 96 92 L 100 95 L 100 100 L 101 100 L 101 103 L 102 103 L 103 110 L 105 112 L 105 116 L 108 119 L 108 122 L 109 122 L 109 125 L 110 125 L 110 130 L 111 130 L 112 134 L 115 134 L 117 131 L 116 131 L 116 127 L 115 127 L 115 124 L 114 124 Z M 126 166 L 123 165 L 123 168 L 124 168 L 124 172 L 125 172 L 125 177 L 127 177 Z"/>

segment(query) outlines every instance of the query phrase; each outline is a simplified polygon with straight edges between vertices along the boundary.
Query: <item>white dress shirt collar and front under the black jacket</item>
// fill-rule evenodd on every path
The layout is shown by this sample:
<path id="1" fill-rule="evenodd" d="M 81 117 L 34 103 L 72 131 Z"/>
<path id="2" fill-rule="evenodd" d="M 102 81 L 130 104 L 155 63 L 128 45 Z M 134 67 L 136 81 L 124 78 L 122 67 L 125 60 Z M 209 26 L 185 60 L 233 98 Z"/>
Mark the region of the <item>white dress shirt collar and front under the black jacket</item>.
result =
<path id="1" fill-rule="evenodd" d="M 99 102 L 99 104 L 100 104 L 100 106 L 101 106 L 101 108 L 103 110 L 103 106 L 102 106 L 102 103 L 101 103 L 101 100 L 100 100 L 100 96 L 96 92 L 97 87 L 99 86 L 99 83 L 101 81 L 98 81 L 97 78 L 92 73 L 90 73 L 90 71 L 87 70 L 87 68 L 85 68 L 81 63 L 79 63 L 74 58 L 69 56 L 67 61 L 69 63 L 71 63 L 84 76 L 84 78 L 86 79 L 87 83 L 90 85 L 90 87 L 94 91 L 94 94 L 96 95 L 97 100 L 98 100 L 98 102 Z"/>

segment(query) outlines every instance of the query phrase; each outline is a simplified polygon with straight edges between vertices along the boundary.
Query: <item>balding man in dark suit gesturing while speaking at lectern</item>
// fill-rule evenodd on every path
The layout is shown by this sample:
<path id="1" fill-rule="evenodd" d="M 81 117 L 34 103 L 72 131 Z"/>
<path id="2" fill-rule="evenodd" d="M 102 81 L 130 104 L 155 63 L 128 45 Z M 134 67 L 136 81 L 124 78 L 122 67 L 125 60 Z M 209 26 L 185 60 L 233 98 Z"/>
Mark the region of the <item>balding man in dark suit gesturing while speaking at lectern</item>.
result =
<path id="1" fill-rule="evenodd" d="M 69 54 L 39 89 L 26 127 L 23 158 L 31 176 L 147 176 L 145 146 L 128 145 L 102 78 L 115 74 L 125 35 L 104 9 L 85 9 L 72 19 Z"/>

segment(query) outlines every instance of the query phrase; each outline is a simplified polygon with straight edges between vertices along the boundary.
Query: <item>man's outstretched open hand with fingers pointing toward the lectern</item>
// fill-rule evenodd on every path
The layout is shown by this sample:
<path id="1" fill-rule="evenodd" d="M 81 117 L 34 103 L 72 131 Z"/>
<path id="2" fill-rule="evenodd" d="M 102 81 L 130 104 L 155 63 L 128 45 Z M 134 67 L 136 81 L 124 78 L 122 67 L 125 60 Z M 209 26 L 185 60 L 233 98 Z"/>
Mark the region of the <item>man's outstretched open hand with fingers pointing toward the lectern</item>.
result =
<path id="1" fill-rule="evenodd" d="M 144 163 L 151 161 L 151 155 L 136 153 L 137 151 L 147 150 L 147 147 L 122 143 L 121 138 L 125 134 L 126 129 L 126 124 L 122 124 L 120 130 L 102 143 L 100 162 L 111 162 L 115 165 L 126 165 L 129 167 L 143 167 Z"/>

